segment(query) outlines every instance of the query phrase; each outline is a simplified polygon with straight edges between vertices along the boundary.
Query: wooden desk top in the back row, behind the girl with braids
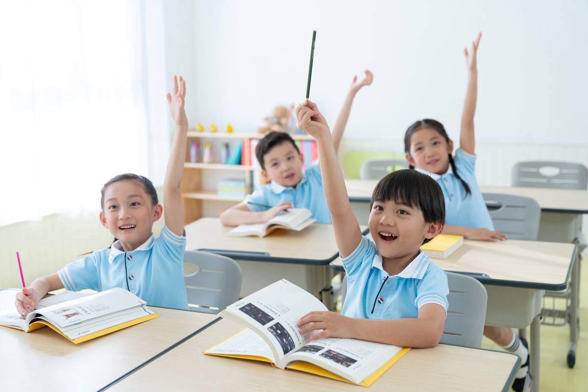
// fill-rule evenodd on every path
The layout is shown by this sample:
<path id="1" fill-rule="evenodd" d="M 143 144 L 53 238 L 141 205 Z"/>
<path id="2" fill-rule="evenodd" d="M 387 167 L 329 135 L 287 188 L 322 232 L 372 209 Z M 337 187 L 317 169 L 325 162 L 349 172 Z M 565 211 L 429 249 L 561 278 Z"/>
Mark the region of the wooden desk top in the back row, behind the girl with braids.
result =
<path id="1" fill-rule="evenodd" d="M 346 179 L 349 200 L 369 202 L 377 180 Z M 588 190 L 550 189 L 511 186 L 480 186 L 482 193 L 505 193 L 506 195 L 532 197 L 544 212 L 588 213 Z"/>

